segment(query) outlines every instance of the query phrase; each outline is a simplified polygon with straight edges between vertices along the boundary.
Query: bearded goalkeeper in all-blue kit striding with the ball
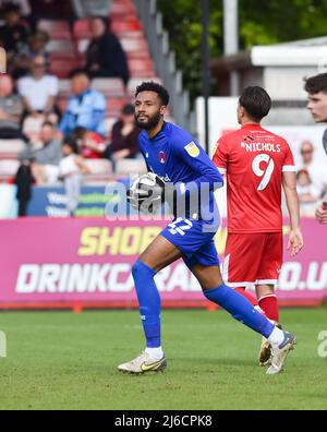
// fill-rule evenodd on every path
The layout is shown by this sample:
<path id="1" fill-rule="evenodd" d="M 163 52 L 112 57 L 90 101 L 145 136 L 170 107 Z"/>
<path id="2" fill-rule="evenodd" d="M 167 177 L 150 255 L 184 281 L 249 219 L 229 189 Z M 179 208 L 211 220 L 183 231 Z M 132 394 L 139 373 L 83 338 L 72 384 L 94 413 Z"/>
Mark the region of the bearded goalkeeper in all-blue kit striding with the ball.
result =
<path id="1" fill-rule="evenodd" d="M 187 132 L 164 120 L 169 103 L 165 87 L 145 82 L 136 88 L 135 97 L 135 119 L 143 129 L 140 148 L 149 173 L 136 180 L 129 191 L 129 200 L 140 208 L 145 202 L 156 203 L 160 195 L 160 200 L 170 204 L 174 219 L 133 265 L 146 348 L 135 359 L 120 364 L 119 371 L 140 374 L 167 367 L 161 347 L 160 296 L 154 277 L 183 259 L 208 300 L 268 339 L 271 357 L 267 374 L 279 373 L 294 347 L 294 335 L 277 328 L 221 278 L 214 244 L 219 228 L 214 192 L 223 184 L 219 171 Z"/>

